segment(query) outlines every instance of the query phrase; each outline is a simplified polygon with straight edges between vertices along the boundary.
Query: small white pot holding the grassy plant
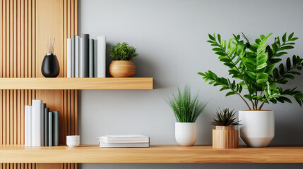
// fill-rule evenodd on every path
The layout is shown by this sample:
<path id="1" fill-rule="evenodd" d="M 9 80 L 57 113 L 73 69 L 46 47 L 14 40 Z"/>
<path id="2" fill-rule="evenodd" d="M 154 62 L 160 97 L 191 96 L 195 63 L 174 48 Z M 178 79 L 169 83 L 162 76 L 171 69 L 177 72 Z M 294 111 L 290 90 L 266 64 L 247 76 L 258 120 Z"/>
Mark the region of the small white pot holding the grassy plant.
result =
<path id="1" fill-rule="evenodd" d="M 180 146 L 193 146 L 197 139 L 197 123 L 175 123 L 175 137 Z"/>

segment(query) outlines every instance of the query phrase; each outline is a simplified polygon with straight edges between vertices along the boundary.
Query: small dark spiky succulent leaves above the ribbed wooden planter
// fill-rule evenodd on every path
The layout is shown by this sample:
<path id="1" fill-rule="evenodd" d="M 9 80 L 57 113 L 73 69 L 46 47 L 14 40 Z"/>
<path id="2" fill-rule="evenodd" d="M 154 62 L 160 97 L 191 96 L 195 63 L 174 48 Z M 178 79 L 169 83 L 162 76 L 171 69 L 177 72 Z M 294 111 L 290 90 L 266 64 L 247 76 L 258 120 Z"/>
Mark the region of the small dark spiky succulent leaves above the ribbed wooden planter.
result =
<path id="1" fill-rule="evenodd" d="M 230 108 L 223 108 L 223 111 L 219 108 L 211 124 L 220 126 L 239 125 L 239 121 L 234 117 L 235 115 L 236 112 L 234 110 L 230 111 Z"/>

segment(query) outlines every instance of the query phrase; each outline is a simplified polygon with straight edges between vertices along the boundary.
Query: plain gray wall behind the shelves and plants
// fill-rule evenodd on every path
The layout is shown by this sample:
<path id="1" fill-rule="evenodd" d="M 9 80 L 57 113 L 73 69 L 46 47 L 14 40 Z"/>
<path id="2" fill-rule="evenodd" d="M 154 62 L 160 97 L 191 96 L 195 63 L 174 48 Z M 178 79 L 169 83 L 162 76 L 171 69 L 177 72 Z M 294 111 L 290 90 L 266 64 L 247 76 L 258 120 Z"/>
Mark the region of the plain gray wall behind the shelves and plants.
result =
<path id="1" fill-rule="evenodd" d="M 80 33 L 107 36 L 108 44 L 128 42 L 138 50 L 136 77 L 153 77 L 153 90 L 85 90 L 80 92 L 81 144 L 97 144 L 102 134 L 145 134 L 151 144 L 176 144 L 174 115 L 165 99 L 177 87 L 189 84 L 209 101 L 198 118 L 196 144 L 211 144 L 210 113 L 216 108 L 246 109 L 237 96 L 225 97 L 218 87 L 201 79 L 199 71 L 227 75 L 213 54 L 208 33 L 223 38 L 246 33 L 254 41 L 260 34 L 295 32 L 300 37 L 292 54 L 303 54 L 303 1 L 281 0 L 81 0 Z M 273 39 L 273 37 L 271 39 Z M 109 63 L 109 61 L 108 61 Z M 302 77 L 287 87 L 302 87 Z M 303 143 L 303 112 L 297 104 L 267 105 L 275 111 L 275 138 L 271 144 Z M 82 168 L 285 168 L 275 164 L 85 164 Z M 303 165 L 292 164 L 293 168 Z"/>

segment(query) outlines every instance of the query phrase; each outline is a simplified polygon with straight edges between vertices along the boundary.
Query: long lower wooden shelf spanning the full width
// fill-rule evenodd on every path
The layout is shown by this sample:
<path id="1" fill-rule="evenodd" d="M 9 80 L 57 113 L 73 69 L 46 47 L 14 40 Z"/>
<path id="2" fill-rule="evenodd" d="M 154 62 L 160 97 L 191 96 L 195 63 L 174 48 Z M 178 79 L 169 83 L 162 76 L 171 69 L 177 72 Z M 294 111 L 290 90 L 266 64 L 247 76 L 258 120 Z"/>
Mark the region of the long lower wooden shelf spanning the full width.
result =
<path id="1" fill-rule="evenodd" d="M 213 149 L 212 146 L 0 146 L 0 163 L 303 163 L 303 146 Z"/>

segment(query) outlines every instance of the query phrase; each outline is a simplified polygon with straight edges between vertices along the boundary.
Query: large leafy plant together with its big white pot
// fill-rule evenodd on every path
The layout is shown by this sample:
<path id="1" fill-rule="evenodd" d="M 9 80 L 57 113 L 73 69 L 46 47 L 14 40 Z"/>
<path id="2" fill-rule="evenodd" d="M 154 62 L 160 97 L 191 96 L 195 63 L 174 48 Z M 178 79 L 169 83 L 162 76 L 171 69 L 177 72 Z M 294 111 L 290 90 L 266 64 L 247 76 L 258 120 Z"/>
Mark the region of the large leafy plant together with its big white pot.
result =
<path id="1" fill-rule="evenodd" d="M 219 56 L 220 61 L 229 68 L 228 72 L 235 80 L 218 77 L 212 71 L 198 73 L 209 84 L 220 86 L 222 90 L 229 90 L 226 96 L 238 95 L 249 110 L 239 111 L 239 136 L 247 146 L 267 146 L 274 137 L 273 111 L 262 110 L 264 104 L 277 104 L 277 102 L 292 103 L 292 96 L 302 106 L 303 93 L 296 88 L 285 89 L 288 80 L 295 79 L 302 70 L 302 58 L 292 56 L 287 58 L 285 65 L 280 63 L 287 54 L 287 49 L 294 48 L 298 39 L 294 33 L 287 37 L 275 37 L 273 44 L 266 43 L 268 37 L 261 35 L 251 44 L 243 35 L 234 35 L 228 42 L 221 39 L 220 35 L 209 35 L 208 42 L 213 46 L 213 51 Z M 280 65 L 276 66 L 278 63 Z M 246 92 L 242 92 L 246 89 Z"/>

